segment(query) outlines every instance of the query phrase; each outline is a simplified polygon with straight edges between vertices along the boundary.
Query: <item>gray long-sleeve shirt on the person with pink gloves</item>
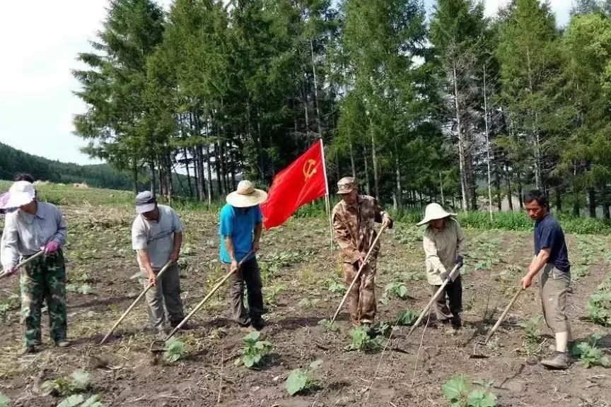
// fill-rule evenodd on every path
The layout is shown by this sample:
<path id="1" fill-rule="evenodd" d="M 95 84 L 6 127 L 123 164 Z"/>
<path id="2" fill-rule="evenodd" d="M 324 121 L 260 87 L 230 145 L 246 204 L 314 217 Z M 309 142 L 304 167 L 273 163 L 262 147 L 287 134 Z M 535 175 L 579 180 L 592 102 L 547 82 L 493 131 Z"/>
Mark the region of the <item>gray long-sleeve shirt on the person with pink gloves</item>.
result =
<path id="1" fill-rule="evenodd" d="M 16 266 L 20 256 L 30 256 L 54 240 L 60 246 L 66 242 L 66 220 L 57 206 L 37 202 L 36 214 L 14 211 L 6 214 L 0 243 L 2 267 Z"/>

